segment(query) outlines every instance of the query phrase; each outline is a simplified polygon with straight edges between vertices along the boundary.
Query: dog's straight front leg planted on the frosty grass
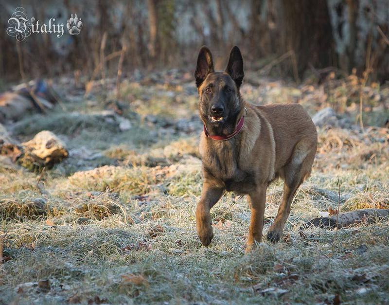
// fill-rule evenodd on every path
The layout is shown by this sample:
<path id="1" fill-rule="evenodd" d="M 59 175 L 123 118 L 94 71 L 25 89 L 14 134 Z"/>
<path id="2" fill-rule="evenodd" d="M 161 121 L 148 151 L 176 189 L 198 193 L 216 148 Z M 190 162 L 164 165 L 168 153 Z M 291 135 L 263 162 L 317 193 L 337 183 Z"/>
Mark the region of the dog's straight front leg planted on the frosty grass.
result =
<path id="1" fill-rule="evenodd" d="M 246 251 L 250 251 L 255 245 L 255 242 L 260 243 L 262 239 L 262 230 L 264 228 L 264 214 L 266 202 L 267 184 L 257 186 L 257 188 L 249 194 L 251 202 L 251 220 L 248 228 L 248 241 Z"/>

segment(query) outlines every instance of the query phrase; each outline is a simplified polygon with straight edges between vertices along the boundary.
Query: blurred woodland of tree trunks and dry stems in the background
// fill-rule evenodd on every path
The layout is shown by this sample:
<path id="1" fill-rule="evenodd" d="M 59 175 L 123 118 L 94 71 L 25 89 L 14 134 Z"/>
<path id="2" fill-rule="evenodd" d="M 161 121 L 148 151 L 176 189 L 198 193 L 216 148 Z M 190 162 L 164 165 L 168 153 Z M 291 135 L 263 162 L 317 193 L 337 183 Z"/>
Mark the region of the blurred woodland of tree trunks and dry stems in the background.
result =
<path id="1" fill-rule="evenodd" d="M 247 67 L 301 80 L 333 69 L 371 80 L 389 79 L 387 0 L 98 0 L 31 1 L 28 17 L 66 24 L 81 16 L 79 36 L 34 34 L 19 42 L 6 34 L 14 1 L 0 4 L 0 74 L 18 80 L 104 67 L 114 75 L 121 53 L 124 72 L 182 67 L 193 70 L 207 44 L 216 67 L 239 45 Z M 66 31 L 66 27 L 65 27 Z M 22 62 L 20 62 L 22 59 Z M 324 70 L 323 70 L 324 69 Z M 97 72 L 96 72 L 97 71 Z"/>

